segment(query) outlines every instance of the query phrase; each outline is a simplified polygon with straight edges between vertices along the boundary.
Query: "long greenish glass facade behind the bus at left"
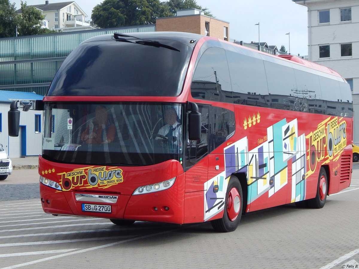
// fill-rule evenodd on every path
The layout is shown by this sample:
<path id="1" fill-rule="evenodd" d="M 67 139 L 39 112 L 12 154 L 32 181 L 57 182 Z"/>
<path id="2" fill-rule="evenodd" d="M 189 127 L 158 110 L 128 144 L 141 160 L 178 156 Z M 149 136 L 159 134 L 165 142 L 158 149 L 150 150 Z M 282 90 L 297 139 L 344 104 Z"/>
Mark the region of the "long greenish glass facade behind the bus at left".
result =
<path id="1" fill-rule="evenodd" d="M 0 38 L 0 90 L 45 95 L 56 71 L 81 42 L 102 34 L 155 32 L 155 25 Z"/>

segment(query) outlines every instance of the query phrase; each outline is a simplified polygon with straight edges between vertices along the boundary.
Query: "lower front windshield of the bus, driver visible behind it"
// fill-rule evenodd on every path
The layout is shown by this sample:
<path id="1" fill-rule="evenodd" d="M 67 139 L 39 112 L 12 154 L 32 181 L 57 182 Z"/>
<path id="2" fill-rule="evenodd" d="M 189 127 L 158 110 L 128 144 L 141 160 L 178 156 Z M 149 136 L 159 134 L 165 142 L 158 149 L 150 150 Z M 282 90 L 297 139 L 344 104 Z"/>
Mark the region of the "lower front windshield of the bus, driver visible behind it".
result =
<path id="1" fill-rule="evenodd" d="M 46 104 L 43 157 L 50 161 L 142 166 L 182 160 L 183 105 Z"/>

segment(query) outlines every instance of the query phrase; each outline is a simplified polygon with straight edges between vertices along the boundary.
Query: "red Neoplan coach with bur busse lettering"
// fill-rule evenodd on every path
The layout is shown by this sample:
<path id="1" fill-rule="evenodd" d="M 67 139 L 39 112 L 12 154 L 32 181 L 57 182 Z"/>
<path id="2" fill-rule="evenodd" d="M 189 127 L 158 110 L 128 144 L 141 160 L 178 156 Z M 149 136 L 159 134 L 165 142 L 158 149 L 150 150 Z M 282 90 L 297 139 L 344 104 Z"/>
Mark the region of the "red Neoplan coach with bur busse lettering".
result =
<path id="1" fill-rule="evenodd" d="M 40 102 L 43 210 L 237 228 L 282 204 L 322 208 L 349 187 L 353 103 L 335 71 L 190 33 L 90 38 Z"/>

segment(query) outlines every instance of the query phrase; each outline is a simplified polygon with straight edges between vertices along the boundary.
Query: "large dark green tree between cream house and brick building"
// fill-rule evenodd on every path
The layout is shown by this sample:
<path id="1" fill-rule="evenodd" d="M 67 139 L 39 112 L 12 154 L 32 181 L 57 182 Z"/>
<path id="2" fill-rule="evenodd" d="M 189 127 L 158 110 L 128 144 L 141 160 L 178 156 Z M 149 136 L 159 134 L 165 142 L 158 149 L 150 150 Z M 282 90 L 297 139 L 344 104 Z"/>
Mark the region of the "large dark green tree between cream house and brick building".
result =
<path id="1" fill-rule="evenodd" d="M 152 24 L 165 7 L 159 0 L 104 0 L 92 10 L 91 19 L 101 28 Z"/>

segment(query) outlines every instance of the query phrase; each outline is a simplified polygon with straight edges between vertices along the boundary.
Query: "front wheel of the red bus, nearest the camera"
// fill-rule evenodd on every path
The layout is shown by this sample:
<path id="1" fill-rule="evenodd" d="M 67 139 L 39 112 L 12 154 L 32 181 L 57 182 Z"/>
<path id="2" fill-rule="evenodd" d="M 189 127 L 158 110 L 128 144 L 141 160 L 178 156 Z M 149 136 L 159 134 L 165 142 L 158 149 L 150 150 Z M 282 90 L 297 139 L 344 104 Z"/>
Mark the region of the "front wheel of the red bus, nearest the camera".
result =
<path id="1" fill-rule="evenodd" d="M 243 210 L 243 193 L 239 180 L 235 177 L 230 178 L 227 187 L 227 194 L 224 204 L 223 217 L 211 221 L 212 227 L 218 232 L 232 232 L 236 230 L 241 221 Z"/>

